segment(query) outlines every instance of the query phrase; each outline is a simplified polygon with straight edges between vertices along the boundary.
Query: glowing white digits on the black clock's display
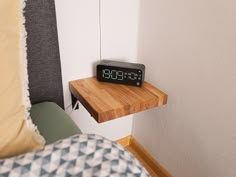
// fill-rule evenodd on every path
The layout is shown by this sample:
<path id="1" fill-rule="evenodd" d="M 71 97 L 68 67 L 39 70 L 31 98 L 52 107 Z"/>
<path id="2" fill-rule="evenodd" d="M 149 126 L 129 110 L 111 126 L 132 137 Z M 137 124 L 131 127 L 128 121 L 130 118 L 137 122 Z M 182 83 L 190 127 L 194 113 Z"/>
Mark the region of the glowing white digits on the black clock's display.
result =
<path id="1" fill-rule="evenodd" d="M 112 79 L 112 80 L 124 80 L 126 78 L 130 80 L 137 79 L 138 74 L 134 72 L 123 72 L 119 70 L 110 70 L 110 69 L 103 69 L 102 70 L 102 77 L 105 79 Z"/>

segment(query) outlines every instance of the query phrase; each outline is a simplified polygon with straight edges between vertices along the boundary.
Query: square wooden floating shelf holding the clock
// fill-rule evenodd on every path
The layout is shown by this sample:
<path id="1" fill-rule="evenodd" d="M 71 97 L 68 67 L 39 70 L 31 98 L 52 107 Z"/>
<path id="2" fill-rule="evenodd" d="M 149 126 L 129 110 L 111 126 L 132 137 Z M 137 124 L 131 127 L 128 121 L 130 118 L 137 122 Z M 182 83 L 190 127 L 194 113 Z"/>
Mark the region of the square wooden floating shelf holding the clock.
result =
<path id="1" fill-rule="evenodd" d="M 70 81 L 69 88 L 98 123 L 167 103 L 167 94 L 146 81 L 142 87 L 134 87 L 90 77 Z"/>

